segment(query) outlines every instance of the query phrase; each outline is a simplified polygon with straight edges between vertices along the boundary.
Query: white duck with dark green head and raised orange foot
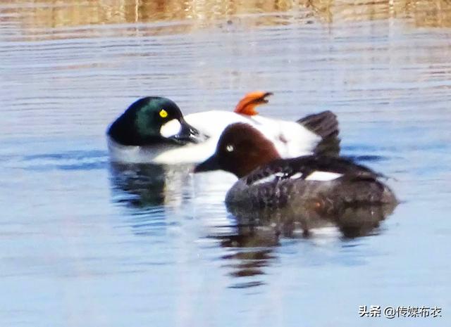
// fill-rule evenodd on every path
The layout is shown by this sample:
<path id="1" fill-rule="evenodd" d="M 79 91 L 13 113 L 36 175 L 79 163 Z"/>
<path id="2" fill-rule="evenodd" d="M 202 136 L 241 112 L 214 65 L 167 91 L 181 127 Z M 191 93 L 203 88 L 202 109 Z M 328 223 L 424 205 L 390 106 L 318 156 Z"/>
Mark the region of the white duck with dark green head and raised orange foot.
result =
<path id="1" fill-rule="evenodd" d="M 267 97 L 271 95 L 271 92 L 254 91 L 246 94 L 233 112 L 209 110 L 189 115 L 183 115 L 178 105 L 168 98 L 140 98 L 107 129 L 111 161 L 199 164 L 214 153 L 223 130 L 237 122 L 258 129 L 283 158 L 323 151 L 326 141 L 333 143 L 334 151 L 337 150 L 339 131 L 334 113 L 326 110 L 297 122 L 258 115 L 255 108 L 268 103 Z"/>

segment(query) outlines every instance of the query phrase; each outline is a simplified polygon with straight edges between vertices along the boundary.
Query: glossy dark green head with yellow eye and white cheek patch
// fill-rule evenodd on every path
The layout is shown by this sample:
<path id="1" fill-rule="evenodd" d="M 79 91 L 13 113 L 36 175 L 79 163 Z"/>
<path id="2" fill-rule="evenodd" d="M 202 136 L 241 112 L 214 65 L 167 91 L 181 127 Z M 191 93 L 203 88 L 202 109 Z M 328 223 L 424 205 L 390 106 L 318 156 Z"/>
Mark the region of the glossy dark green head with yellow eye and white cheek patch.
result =
<path id="1" fill-rule="evenodd" d="M 199 141 L 199 131 L 185 121 L 178 105 L 159 96 L 140 98 L 132 103 L 111 124 L 107 133 L 113 141 L 124 146 Z"/>

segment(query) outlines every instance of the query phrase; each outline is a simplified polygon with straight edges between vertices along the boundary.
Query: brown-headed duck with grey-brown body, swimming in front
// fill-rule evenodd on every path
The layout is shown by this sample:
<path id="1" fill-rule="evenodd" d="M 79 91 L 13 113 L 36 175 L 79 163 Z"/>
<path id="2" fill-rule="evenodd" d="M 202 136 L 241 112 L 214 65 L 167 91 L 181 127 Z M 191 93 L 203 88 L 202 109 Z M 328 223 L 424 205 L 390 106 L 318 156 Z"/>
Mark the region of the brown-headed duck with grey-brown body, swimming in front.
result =
<path id="1" fill-rule="evenodd" d="M 226 204 L 258 210 L 303 206 L 342 210 L 359 205 L 397 203 L 381 181 L 382 174 L 348 158 L 303 155 L 282 158 L 278 149 L 250 124 L 224 129 L 214 155 L 194 172 L 222 169 L 238 181 L 226 193 Z"/>

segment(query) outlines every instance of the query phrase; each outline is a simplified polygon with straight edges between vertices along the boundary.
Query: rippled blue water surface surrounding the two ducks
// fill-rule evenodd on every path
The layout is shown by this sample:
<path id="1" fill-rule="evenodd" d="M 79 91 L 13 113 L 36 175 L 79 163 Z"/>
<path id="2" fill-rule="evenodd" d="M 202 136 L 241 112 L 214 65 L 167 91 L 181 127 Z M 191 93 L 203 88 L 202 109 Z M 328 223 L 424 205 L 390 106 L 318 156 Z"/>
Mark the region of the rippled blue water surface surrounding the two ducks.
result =
<path id="1" fill-rule="evenodd" d="M 39 25 L 68 2 L 0 4 L 1 326 L 450 326 L 449 28 L 311 8 Z M 393 214 L 357 237 L 276 236 L 226 210 L 226 173 L 109 162 L 106 127 L 140 96 L 194 113 L 257 89 L 274 93 L 262 115 L 333 110 Z"/>

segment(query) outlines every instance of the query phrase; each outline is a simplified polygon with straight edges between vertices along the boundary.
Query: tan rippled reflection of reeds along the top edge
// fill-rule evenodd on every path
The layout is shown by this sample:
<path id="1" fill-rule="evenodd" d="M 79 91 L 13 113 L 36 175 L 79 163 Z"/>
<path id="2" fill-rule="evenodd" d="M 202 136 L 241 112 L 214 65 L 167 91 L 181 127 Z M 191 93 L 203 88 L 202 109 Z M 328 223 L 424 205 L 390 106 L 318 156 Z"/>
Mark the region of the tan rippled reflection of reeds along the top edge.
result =
<path id="1" fill-rule="evenodd" d="M 240 23 L 250 26 L 284 25 L 299 20 L 309 23 L 311 18 L 333 24 L 401 18 L 418 27 L 451 27 L 451 3 L 447 0 L 10 0 L 0 4 L 1 21 L 19 23 L 29 35 L 36 34 L 39 28 L 150 22 L 161 23 L 154 27 L 153 34 L 180 33 L 221 22 L 233 23 L 237 17 Z M 168 22 L 175 24 L 167 25 Z M 135 28 L 136 25 L 130 27 Z M 130 32 L 125 30 L 125 34 Z"/>

